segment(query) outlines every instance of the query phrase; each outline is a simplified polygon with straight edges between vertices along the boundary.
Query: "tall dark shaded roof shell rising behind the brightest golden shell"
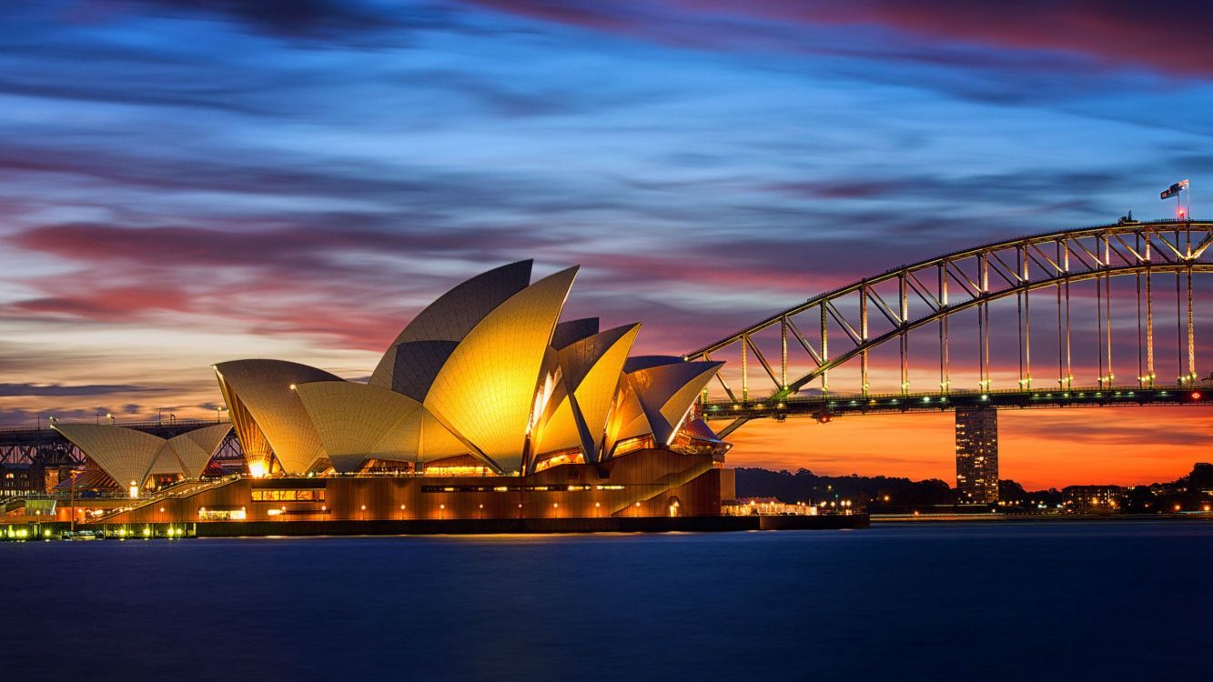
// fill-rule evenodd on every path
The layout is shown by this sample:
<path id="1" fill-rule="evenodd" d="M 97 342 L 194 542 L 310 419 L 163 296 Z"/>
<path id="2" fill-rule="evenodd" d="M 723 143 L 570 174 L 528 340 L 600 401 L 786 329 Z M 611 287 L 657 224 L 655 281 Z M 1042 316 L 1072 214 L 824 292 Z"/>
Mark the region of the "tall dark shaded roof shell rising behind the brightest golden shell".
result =
<path id="1" fill-rule="evenodd" d="M 409 342 L 454 342 L 457 344 L 463 340 L 463 337 L 484 320 L 485 315 L 509 297 L 526 288 L 530 282 L 531 263 L 531 260 L 519 260 L 495 268 L 467 280 L 431 303 L 388 345 L 378 366 L 371 373 L 370 384 L 399 390 L 395 388 L 394 378 L 398 368 L 408 368 L 418 362 L 426 367 L 432 366 L 434 362 L 432 354 L 435 353 L 435 348 L 445 349 L 446 353 L 442 356 L 442 360 L 445 360 L 454 349 L 452 345 L 410 345 L 405 349 L 397 346 Z M 426 356 L 414 357 L 414 353 L 418 351 Z M 442 367 L 442 362 L 438 362 L 438 367 Z M 437 369 L 429 376 L 429 380 L 433 380 L 434 374 L 437 374 Z M 428 388 L 428 382 L 426 386 Z M 421 396 L 412 392 L 400 392 L 421 400 Z"/>

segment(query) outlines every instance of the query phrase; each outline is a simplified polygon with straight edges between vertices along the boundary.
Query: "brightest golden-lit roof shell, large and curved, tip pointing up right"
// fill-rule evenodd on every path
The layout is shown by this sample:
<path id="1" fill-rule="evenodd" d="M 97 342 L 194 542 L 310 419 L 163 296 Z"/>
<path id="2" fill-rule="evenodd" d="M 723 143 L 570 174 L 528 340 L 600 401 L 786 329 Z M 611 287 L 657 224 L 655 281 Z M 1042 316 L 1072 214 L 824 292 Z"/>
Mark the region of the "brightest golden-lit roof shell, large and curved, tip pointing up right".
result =
<path id="1" fill-rule="evenodd" d="M 576 274 L 545 277 L 489 313 L 426 396 L 426 408 L 501 471 L 522 468 L 540 368 Z"/>

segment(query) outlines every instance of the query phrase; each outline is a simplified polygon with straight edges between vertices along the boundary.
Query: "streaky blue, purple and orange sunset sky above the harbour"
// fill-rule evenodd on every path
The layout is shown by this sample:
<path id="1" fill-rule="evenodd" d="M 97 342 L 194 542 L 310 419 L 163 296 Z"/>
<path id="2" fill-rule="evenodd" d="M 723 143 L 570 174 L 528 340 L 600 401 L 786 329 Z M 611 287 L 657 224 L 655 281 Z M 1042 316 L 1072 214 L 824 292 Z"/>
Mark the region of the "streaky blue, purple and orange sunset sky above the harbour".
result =
<path id="1" fill-rule="evenodd" d="M 213 415 L 239 357 L 363 378 L 523 258 L 582 267 L 566 317 L 680 354 L 901 263 L 1167 217 L 1183 178 L 1200 217 L 1211 29 L 1200 2 L 5 2 L 0 423 Z M 1173 480 L 1208 424 L 1002 413 L 1002 476 Z M 955 477 L 950 414 L 731 440 Z"/>

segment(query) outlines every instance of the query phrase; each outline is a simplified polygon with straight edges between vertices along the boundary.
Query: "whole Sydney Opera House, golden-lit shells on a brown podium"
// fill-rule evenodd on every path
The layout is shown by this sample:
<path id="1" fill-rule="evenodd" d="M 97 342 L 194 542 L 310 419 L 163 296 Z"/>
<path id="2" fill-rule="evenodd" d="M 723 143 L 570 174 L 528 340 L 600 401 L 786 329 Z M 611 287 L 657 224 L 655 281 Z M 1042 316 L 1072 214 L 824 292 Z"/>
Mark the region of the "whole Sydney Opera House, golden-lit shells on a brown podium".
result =
<path id="1" fill-rule="evenodd" d="M 721 363 L 631 356 L 638 323 L 562 320 L 576 273 L 533 283 L 524 260 L 459 285 L 365 383 L 220 362 L 230 424 L 58 424 L 89 459 L 75 485 L 127 493 L 109 523 L 719 514 L 729 446 L 695 403 Z M 226 474 L 211 458 L 233 429 L 246 469 Z"/>

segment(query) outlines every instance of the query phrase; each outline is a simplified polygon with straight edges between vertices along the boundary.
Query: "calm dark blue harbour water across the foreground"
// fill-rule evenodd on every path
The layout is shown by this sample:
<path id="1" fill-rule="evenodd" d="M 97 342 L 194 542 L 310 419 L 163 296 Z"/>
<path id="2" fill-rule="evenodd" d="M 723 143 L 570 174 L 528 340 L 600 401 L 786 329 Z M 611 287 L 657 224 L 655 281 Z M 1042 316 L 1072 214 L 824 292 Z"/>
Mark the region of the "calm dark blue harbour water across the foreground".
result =
<path id="1" fill-rule="evenodd" d="M 1198 521 L 0 544 L 0 670 L 1209 680 L 1211 568 Z"/>

